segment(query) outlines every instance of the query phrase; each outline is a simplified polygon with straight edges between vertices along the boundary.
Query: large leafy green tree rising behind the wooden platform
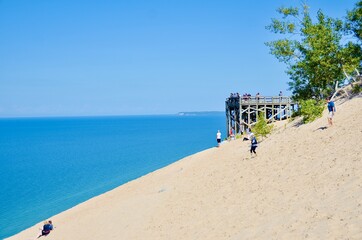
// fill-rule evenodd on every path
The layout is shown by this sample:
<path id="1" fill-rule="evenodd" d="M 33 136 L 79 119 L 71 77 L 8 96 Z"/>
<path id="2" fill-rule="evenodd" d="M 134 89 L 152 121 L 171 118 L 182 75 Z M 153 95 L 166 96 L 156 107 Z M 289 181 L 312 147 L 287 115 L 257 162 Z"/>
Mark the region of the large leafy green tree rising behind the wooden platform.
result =
<path id="1" fill-rule="evenodd" d="M 355 45 L 341 44 L 343 22 L 327 17 L 321 10 L 316 23 L 309 7 L 279 8 L 282 19 L 272 19 L 266 28 L 283 39 L 267 42 L 270 52 L 287 65 L 288 82 L 295 100 L 321 99 L 330 95 L 335 82 L 345 78 L 343 70 L 352 72 L 361 56 Z"/>

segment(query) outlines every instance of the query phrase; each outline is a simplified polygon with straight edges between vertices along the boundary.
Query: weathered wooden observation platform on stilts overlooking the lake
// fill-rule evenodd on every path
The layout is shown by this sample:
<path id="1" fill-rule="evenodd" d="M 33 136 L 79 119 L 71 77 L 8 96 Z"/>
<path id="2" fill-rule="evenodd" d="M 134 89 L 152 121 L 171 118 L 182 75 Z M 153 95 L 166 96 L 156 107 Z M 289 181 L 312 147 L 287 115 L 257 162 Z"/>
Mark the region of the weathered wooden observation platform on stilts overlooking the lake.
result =
<path id="1" fill-rule="evenodd" d="M 267 122 L 288 119 L 295 111 L 295 105 L 286 96 L 230 96 L 225 101 L 227 136 L 230 136 L 231 131 L 236 134 L 251 128 L 258 121 L 260 113 Z"/>

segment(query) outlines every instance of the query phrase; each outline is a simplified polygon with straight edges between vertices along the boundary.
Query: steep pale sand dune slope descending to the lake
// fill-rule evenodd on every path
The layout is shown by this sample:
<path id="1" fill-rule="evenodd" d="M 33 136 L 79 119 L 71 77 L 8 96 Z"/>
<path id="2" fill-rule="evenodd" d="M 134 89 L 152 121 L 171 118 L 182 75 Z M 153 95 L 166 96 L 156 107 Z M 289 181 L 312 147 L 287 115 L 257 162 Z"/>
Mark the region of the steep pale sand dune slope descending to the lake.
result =
<path id="1" fill-rule="evenodd" d="M 362 98 L 223 143 L 51 218 L 47 240 L 362 239 Z M 39 223 L 8 239 L 29 240 Z"/>

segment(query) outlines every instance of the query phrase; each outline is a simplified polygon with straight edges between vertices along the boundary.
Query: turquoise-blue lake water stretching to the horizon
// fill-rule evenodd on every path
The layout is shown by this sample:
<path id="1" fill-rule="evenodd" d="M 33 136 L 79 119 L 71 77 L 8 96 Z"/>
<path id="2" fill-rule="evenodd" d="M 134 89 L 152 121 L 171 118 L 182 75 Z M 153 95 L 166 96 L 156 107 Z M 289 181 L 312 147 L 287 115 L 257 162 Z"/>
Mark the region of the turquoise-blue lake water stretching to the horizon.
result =
<path id="1" fill-rule="evenodd" d="M 225 137 L 225 115 L 0 119 L 0 239 Z"/>

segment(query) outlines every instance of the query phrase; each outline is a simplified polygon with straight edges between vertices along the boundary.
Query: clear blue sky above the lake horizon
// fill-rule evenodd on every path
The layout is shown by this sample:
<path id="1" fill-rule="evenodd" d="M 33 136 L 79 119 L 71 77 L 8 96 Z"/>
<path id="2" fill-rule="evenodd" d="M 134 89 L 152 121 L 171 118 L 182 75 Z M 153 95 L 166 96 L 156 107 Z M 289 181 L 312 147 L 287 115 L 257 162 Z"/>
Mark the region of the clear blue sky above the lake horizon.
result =
<path id="1" fill-rule="evenodd" d="M 357 0 L 310 0 L 342 18 Z M 299 0 L 0 0 L 0 117 L 224 111 L 287 91 L 265 26 Z"/>

